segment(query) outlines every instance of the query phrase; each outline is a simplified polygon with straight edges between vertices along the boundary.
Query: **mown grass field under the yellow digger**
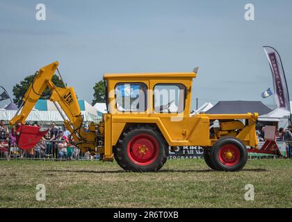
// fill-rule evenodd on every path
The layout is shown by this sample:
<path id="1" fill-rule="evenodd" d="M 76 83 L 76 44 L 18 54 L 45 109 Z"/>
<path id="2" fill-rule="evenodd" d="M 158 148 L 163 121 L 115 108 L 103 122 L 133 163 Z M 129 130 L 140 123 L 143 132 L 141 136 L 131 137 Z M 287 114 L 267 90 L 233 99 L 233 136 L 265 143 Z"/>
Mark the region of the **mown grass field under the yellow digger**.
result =
<path id="1" fill-rule="evenodd" d="M 204 160 L 168 160 L 158 173 L 111 162 L 0 161 L 0 207 L 292 207 L 292 160 L 249 160 L 215 172 Z M 35 200 L 36 185 L 45 201 Z M 254 201 L 244 198 L 254 185 Z"/>

